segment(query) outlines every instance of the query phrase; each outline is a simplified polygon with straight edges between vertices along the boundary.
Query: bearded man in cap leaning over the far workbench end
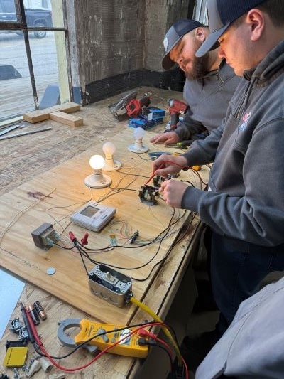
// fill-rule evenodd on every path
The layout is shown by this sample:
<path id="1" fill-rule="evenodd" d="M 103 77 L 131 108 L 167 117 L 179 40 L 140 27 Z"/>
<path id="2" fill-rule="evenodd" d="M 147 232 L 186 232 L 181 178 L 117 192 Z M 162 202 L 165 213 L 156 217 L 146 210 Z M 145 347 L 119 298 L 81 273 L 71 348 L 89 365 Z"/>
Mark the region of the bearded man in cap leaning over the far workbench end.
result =
<path id="1" fill-rule="evenodd" d="M 221 124 L 226 114 L 239 78 L 218 57 L 218 50 L 212 50 L 202 58 L 195 57 L 208 35 L 208 26 L 195 20 L 180 20 L 165 35 L 163 68 L 169 70 L 178 63 L 185 72 L 183 97 L 190 107 L 177 129 L 153 137 L 150 141 L 154 144 L 175 144 L 190 140 L 192 136 L 197 138 L 199 134 L 205 137 Z"/>

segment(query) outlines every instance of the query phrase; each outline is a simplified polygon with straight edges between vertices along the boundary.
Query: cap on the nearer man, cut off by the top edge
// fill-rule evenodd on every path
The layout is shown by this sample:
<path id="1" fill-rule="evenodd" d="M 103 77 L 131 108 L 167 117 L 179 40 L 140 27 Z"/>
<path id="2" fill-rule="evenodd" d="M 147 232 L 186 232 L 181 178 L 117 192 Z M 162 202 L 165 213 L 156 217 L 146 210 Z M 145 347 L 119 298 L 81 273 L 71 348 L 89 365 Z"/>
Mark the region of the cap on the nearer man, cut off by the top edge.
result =
<path id="1" fill-rule="evenodd" d="M 195 56 L 202 57 L 217 48 L 218 39 L 233 21 L 266 0 L 208 0 L 207 11 L 210 34 L 197 50 Z"/>

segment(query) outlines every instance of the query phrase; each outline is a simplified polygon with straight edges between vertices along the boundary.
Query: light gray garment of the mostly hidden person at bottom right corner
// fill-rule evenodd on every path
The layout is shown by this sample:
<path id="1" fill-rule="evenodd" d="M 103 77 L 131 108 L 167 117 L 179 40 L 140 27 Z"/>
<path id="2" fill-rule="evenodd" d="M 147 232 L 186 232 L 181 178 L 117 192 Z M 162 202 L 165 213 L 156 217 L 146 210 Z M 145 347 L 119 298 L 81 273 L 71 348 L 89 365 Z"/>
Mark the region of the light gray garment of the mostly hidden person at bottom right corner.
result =
<path id="1" fill-rule="evenodd" d="M 284 377 L 284 278 L 241 303 L 229 329 L 197 368 L 195 379 Z"/>

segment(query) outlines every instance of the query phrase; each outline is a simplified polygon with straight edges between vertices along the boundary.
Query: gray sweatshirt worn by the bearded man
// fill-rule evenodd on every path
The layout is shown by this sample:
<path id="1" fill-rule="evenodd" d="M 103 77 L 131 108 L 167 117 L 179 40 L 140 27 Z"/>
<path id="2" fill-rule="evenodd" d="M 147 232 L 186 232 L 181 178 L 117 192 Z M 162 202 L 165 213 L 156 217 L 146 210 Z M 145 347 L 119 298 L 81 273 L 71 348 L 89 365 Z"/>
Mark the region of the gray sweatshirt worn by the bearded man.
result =
<path id="1" fill-rule="evenodd" d="M 240 79 L 223 60 L 218 70 L 204 78 L 185 81 L 183 97 L 190 108 L 175 129 L 180 141 L 219 127 Z"/>

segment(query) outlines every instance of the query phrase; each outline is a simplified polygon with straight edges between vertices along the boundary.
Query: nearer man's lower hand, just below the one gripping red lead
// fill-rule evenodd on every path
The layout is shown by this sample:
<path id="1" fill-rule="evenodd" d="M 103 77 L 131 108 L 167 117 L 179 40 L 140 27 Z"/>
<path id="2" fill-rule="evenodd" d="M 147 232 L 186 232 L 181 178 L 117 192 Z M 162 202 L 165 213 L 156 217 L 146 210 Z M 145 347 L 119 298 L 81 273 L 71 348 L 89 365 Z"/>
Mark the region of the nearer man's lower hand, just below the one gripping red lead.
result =
<path id="1" fill-rule="evenodd" d="M 169 181 L 163 181 L 159 192 L 163 195 L 163 199 L 170 207 L 181 208 L 182 196 L 187 187 L 187 184 L 182 183 L 182 181 L 170 179 Z"/>

